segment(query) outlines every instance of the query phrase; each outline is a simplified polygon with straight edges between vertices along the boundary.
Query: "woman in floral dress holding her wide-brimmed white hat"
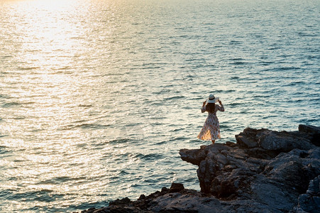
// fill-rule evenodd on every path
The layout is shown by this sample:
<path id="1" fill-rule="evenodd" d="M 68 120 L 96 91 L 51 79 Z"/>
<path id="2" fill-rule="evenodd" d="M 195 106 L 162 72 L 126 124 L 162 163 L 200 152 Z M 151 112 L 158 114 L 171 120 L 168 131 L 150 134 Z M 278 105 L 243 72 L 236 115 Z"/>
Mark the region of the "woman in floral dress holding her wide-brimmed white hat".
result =
<path id="1" fill-rule="evenodd" d="M 216 105 L 216 102 L 219 102 L 219 105 Z M 214 97 L 213 94 L 209 95 L 209 99 L 204 102 L 202 105 L 202 113 L 204 111 L 208 111 L 208 117 L 206 118 L 206 121 L 204 122 L 204 126 L 202 127 L 202 130 L 200 131 L 198 138 L 202 139 L 204 141 L 211 140 L 212 143 L 216 141 L 216 139 L 220 139 L 220 126 L 219 126 L 219 120 L 216 116 L 216 111 L 224 111 L 224 105 L 222 105 L 222 102 L 219 100 L 219 97 Z"/>

